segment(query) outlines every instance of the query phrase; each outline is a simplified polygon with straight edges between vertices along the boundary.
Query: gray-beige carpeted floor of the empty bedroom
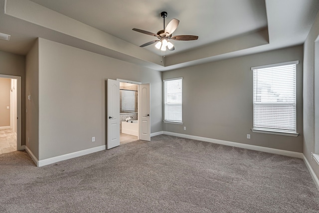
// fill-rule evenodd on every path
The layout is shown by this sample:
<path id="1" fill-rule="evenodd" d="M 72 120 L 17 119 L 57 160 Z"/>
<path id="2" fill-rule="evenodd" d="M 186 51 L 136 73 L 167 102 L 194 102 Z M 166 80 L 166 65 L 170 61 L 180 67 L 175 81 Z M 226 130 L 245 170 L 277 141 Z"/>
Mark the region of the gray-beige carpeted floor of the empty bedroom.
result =
<path id="1" fill-rule="evenodd" d="M 318 213 L 302 159 L 160 135 L 37 168 L 0 155 L 1 213 Z"/>

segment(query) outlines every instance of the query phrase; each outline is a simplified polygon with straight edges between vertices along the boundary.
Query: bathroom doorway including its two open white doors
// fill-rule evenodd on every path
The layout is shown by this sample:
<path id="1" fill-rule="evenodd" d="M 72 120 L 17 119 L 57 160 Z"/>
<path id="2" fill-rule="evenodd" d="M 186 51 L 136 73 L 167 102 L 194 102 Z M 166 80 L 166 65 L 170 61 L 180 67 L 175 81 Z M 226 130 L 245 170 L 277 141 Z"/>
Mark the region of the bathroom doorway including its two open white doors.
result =
<path id="1" fill-rule="evenodd" d="M 123 82 L 129 84 L 122 84 Z M 127 98 L 122 100 L 122 97 Z M 120 117 L 120 111 L 122 117 Z M 122 144 L 136 140 L 151 141 L 150 84 L 108 79 L 106 81 L 106 120 L 107 149 L 121 144 L 120 133 L 122 133 Z"/>

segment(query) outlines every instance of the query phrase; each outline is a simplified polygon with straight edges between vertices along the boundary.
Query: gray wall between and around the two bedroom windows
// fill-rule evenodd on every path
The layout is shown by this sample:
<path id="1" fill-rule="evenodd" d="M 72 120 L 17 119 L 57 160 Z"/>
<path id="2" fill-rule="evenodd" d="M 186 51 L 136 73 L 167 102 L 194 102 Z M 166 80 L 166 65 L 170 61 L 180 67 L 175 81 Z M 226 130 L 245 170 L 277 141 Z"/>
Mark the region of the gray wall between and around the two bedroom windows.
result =
<path id="1" fill-rule="evenodd" d="M 253 133 L 253 72 L 250 68 L 293 60 L 299 60 L 297 132 L 300 135 Z M 162 77 L 183 77 L 183 124 L 164 123 L 163 131 L 303 152 L 303 46 L 166 71 Z M 251 134 L 251 139 L 246 138 L 247 134 Z"/>

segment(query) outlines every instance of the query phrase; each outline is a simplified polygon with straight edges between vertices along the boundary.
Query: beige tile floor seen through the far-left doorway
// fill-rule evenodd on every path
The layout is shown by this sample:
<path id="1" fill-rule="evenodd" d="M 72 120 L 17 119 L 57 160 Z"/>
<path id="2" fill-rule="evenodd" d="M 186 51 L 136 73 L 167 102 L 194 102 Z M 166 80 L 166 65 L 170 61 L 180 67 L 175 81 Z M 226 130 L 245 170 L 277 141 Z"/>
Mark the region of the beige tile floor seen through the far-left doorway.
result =
<path id="1" fill-rule="evenodd" d="M 0 129 L 0 154 L 16 151 L 16 137 L 11 129 Z"/>

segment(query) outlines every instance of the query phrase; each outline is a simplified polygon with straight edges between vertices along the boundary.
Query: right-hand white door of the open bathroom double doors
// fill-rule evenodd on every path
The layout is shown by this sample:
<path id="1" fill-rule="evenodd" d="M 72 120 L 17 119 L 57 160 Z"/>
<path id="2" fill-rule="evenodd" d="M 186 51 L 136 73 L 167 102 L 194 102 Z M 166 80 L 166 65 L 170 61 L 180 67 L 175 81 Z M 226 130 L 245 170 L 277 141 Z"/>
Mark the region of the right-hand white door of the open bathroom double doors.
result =
<path id="1" fill-rule="evenodd" d="M 139 85 L 140 140 L 151 141 L 150 84 Z"/>

